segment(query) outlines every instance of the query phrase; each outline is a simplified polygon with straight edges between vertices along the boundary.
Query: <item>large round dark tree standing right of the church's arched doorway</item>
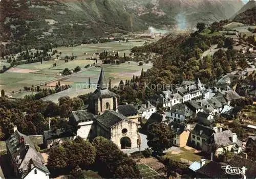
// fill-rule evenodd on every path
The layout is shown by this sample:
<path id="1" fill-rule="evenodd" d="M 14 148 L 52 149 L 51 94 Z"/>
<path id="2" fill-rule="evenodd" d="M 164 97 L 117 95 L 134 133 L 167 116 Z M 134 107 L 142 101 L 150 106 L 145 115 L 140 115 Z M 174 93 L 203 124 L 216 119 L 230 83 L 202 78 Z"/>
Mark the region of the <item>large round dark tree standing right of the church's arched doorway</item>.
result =
<path id="1" fill-rule="evenodd" d="M 157 154 L 172 147 L 175 134 L 165 123 L 153 123 L 148 127 L 147 145 Z"/>

